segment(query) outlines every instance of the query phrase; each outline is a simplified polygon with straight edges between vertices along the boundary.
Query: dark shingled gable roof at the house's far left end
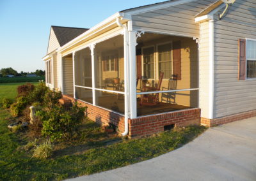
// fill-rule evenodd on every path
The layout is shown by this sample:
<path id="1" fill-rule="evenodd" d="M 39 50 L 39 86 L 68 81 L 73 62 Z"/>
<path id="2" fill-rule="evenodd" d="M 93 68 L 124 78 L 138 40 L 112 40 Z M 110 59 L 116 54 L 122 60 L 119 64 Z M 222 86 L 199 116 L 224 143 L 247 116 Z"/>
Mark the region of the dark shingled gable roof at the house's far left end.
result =
<path id="1" fill-rule="evenodd" d="M 52 25 L 51 27 L 54 31 L 54 34 L 56 35 L 58 42 L 60 43 L 60 47 L 88 30 L 87 28 L 63 27 L 56 25 Z"/>

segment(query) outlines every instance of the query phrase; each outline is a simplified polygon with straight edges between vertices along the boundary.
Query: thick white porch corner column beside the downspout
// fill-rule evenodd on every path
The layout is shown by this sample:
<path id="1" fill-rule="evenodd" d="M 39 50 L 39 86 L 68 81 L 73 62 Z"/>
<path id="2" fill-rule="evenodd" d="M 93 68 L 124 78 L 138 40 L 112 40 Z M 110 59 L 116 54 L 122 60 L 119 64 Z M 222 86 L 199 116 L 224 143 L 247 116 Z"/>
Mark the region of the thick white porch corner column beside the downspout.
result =
<path id="1" fill-rule="evenodd" d="M 137 96 L 136 96 L 136 32 L 129 29 L 129 102 L 130 118 L 137 117 Z"/>

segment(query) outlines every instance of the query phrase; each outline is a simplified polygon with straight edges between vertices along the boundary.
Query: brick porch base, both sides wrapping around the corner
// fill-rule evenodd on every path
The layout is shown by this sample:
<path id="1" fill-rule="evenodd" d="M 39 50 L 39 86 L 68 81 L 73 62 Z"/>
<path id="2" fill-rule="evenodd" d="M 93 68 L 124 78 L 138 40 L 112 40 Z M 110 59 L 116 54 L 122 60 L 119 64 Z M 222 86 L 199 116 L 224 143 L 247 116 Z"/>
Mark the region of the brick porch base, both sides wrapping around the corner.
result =
<path id="1" fill-rule="evenodd" d="M 72 98 L 68 95 L 63 95 L 63 99 L 70 99 L 72 102 L 82 106 L 87 106 L 87 116 L 89 119 L 104 126 L 109 122 L 118 127 L 118 133 L 124 133 L 124 116 L 117 113 L 109 112 L 97 106 L 86 104 L 83 101 Z M 61 103 L 68 102 L 61 100 Z M 129 119 L 129 137 L 149 136 L 154 133 L 164 131 L 164 126 L 174 124 L 175 127 L 183 127 L 189 125 L 200 125 L 200 109 L 180 110 L 178 112 L 163 113 L 159 115 L 149 115 L 139 117 L 137 119 Z"/>

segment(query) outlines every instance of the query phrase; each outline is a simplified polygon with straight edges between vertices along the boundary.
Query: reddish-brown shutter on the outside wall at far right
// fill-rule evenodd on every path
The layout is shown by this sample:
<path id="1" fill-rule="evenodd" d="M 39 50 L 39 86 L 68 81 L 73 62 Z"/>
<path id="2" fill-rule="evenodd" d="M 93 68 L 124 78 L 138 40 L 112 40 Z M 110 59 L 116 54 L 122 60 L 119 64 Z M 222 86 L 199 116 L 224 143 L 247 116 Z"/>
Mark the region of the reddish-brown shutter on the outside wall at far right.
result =
<path id="1" fill-rule="evenodd" d="M 239 80 L 246 78 L 246 40 L 239 39 Z"/>

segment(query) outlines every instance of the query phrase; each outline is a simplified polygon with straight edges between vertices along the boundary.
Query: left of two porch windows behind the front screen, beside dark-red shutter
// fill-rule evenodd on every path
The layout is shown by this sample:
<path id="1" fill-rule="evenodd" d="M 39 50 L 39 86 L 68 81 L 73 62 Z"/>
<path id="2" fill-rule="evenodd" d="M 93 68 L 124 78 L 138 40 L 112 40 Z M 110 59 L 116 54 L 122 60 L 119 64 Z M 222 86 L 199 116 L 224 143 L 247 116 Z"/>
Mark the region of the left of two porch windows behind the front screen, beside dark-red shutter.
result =
<path id="1" fill-rule="evenodd" d="M 143 76 L 154 78 L 154 47 L 143 48 Z"/>

